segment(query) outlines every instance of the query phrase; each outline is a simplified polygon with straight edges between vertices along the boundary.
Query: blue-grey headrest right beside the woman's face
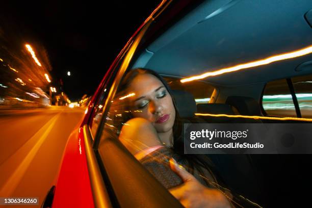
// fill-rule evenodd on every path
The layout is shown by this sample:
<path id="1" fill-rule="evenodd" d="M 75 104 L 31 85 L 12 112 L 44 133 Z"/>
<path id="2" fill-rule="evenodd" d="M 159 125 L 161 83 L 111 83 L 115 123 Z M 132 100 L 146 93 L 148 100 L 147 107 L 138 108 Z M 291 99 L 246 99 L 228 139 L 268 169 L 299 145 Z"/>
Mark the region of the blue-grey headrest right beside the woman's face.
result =
<path id="1" fill-rule="evenodd" d="M 181 90 L 172 90 L 172 96 L 181 118 L 194 117 L 196 113 L 196 102 L 191 93 Z"/>

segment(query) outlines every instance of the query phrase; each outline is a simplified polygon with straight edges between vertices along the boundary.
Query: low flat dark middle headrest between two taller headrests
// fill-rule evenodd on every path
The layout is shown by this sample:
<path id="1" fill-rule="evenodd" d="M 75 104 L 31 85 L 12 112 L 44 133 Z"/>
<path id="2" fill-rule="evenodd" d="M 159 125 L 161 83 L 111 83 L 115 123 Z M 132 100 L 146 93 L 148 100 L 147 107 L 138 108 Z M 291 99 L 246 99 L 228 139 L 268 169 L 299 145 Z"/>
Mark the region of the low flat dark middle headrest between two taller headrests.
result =
<path id="1" fill-rule="evenodd" d="M 209 113 L 209 114 L 227 114 L 234 115 L 232 107 L 224 103 L 204 103 L 197 104 L 198 113 Z"/>

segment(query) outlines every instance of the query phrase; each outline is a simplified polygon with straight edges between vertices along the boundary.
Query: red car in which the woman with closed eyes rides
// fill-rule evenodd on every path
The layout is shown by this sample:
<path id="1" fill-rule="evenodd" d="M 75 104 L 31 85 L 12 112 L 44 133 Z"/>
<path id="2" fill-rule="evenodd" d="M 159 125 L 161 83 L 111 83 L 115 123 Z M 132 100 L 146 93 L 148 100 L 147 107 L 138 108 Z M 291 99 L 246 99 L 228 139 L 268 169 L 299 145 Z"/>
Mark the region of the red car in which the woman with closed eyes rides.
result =
<path id="1" fill-rule="evenodd" d="M 125 113 L 119 84 L 135 68 L 152 69 L 184 92 L 175 97 L 177 110 L 199 123 L 310 123 L 310 9 L 309 0 L 162 1 L 103 77 L 42 206 L 181 207 L 116 139 Z M 208 156 L 246 207 L 309 202 L 310 154 Z"/>

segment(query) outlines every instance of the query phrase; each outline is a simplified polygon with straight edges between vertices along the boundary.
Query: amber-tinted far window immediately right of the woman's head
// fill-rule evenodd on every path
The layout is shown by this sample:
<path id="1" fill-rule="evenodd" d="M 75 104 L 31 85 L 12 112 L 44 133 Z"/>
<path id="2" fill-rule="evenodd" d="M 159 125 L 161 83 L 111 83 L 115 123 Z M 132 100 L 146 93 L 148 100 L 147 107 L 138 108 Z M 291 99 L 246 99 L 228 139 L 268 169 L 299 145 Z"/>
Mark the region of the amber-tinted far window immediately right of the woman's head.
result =
<path id="1" fill-rule="evenodd" d="M 194 96 L 196 104 L 208 103 L 215 89 L 213 86 L 203 81 L 181 83 L 180 79 L 177 78 L 164 76 L 164 79 L 171 89 L 190 92 Z"/>

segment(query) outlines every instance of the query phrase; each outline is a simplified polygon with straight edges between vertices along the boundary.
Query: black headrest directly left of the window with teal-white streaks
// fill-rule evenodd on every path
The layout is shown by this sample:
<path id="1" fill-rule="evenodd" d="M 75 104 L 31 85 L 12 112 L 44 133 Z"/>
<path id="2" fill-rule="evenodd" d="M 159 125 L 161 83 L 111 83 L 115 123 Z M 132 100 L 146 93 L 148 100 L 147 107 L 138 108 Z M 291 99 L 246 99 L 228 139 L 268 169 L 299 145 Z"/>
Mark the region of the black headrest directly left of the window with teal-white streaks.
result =
<path id="1" fill-rule="evenodd" d="M 261 115 L 259 103 L 252 97 L 229 96 L 225 102 L 235 107 L 241 115 Z"/>

